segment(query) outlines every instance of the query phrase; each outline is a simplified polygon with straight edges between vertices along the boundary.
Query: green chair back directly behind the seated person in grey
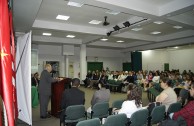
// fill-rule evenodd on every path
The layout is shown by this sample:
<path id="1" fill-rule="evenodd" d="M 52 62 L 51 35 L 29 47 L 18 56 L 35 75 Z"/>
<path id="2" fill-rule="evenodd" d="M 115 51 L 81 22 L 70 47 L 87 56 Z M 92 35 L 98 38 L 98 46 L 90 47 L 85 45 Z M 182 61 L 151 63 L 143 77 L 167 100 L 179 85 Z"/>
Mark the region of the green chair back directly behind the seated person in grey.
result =
<path id="1" fill-rule="evenodd" d="M 96 103 L 92 107 L 91 113 L 87 113 L 88 118 L 106 118 L 109 114 L 109 103 L 108 102 L 100 102 Z"/>

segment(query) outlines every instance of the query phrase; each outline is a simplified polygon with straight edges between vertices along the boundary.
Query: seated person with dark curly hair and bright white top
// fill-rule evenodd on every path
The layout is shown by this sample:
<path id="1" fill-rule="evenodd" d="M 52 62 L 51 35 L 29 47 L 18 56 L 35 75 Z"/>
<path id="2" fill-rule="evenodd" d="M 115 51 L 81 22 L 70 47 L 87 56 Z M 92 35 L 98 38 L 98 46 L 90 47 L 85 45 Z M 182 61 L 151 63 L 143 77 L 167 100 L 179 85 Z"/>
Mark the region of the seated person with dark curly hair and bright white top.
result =
<path id="1" fill-rule="evenodd" d="M 123 102 L 122 107 L 118 110 L 118 114 L 126 114 L 127 118 L 131 118 L 131 115 L 142 108 L 141 96 L 138 93 L 137 88 L 131 88 L 132 84 L 129 84 L 130 91 L 127 92 L 127 100 Z"/>

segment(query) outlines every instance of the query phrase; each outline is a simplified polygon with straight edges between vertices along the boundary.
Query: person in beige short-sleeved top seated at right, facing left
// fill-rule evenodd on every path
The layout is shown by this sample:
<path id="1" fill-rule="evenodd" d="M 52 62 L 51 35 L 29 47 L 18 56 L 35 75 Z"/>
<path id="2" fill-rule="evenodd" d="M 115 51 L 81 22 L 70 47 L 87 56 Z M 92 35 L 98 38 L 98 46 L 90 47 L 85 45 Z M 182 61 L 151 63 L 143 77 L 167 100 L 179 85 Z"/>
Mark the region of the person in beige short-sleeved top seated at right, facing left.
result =
<path id="1" fill-rule="evenodd" d="M 171 88 L 171 81 L 167 77 L 161 79 L 160 86 L 164 90 L 156 97 L 156 102 L 161 102 L 165 105 L 167 111 L 170 104 L 177 102 L 177 95 Z"/>

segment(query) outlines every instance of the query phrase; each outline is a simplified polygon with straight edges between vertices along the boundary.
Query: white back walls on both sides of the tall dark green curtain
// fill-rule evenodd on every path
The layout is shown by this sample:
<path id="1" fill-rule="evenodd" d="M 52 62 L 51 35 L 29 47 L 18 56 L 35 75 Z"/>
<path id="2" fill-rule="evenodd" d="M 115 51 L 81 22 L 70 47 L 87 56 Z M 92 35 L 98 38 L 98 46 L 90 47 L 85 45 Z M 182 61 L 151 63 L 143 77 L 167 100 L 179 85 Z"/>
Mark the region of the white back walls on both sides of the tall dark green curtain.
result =
<path id="1" fill-rule="evenodd" d="M 38 72 L 43 70 L 44 61 L 59 61 L 60 76 L 65 76 L 65 56 L 62 55 L 62 46 L 60 45 L 32 45 L 32 49 L 38 49 Z M 142 51 L 142 69 L 143 70 L 164 70 L 164 63 L 169 63 L 170 70 L 179 69 L 194 71 L 193 49 L 186 50 L 150 50 Z M 103 62 L 104 69 L 122 70 L 123 62 L 131 62 L 131 53 L 121 53 L 120 50 L 87 48 L 87 61 L 95 62 L 98 57 L 99 62 Z M 75 47 L 75 55 L 68 56 L 69 62 L 73 63 L 74 77 L 78 77 L 80 72 L 80 47 Z"/>

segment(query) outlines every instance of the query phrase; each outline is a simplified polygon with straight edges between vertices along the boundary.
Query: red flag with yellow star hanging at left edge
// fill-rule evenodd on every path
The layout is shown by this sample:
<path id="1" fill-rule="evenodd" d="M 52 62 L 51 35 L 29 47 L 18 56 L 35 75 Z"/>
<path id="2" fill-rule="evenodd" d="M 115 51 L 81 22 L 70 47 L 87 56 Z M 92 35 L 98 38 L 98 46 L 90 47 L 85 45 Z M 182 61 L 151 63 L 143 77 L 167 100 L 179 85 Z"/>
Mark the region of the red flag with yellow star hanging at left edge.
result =
<path id="1" fill-rule="evenodd" d="M 12 60 L 7 0 L 0 0 L 0 95 L 5 106 L 4 113 L 7 116 L 8 126 L 14 126 Z"/>

